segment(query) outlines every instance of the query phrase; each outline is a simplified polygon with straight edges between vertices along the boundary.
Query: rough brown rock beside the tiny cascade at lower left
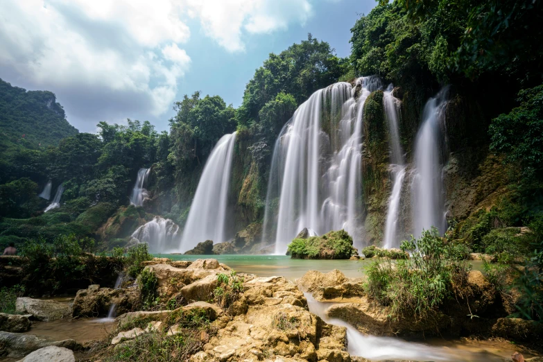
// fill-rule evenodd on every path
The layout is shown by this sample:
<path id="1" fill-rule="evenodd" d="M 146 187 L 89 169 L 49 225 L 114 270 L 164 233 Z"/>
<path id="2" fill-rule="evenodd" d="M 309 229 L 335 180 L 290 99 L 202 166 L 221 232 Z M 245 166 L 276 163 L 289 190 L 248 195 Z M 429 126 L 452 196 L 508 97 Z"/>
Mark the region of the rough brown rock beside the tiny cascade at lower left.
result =
<path id="1" fill-rule="evenodd" d="M 137 305 L 138 298 L 135 288 L 100 288 L 94 284 L 77 292 L 71 307 L 71 316 L 74 318 L 107 316 L 112 304 L 115 304 L 116 314 L 126 313 Z"/>

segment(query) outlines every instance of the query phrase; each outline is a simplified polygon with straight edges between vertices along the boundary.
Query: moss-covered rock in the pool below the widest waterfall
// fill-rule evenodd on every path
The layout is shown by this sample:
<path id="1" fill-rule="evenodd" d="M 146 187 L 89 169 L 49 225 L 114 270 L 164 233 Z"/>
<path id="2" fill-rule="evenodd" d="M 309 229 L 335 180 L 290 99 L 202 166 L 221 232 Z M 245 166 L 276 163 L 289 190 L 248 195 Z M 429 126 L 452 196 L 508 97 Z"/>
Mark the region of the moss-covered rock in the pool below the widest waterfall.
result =
<path id="1" fill-rule="evenodd" d="M 293 259 L 349 259 L 357 254 L 358 250 L 352 246 L 352 237 L 345 230 L 294 239 L 287 251 Z"/>

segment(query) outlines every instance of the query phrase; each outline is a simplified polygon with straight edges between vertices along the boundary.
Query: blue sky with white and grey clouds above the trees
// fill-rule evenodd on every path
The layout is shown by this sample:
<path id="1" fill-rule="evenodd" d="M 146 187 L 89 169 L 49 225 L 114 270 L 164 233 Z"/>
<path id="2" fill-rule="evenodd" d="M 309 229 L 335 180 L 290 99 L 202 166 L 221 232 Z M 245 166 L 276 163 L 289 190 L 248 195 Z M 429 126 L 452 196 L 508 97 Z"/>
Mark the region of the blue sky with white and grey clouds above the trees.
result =
<path id="1" fill-rule="evenodd" d="M 149 120 L 200 90 L 241 103 L 268 53 L 312 33 L 350 53 L 350 28 L 374 0 L 3 0 L 0 78 L 57 95 L 83 132 Z"/>

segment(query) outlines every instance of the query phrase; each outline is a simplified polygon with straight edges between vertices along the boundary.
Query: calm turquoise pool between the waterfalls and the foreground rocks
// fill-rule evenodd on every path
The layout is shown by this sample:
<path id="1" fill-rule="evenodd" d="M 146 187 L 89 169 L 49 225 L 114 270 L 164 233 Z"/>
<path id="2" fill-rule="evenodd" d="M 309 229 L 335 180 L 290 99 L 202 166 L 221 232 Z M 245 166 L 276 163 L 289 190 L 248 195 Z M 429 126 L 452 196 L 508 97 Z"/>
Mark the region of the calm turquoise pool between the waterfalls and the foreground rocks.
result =
<path id="1" fill-rule="evenodd" d="M 319 270 L 328 273 L 338 269 L 347 277 L 361 277 L 364 268 L 371 263 L 369 260 L 305 260 L 291 259 L 286 255 L 177 255 L 161 254 L 155 257 L 166 257 L 173 260 L 217 259 L 219 263 L 226 264 L 239 273 L 256 274 L 260 277 L 281 275 L 294 281 L 302 277 L 307 270 Z M 472 261 L 474 269 L 481 268 L 480 261 Z"/>

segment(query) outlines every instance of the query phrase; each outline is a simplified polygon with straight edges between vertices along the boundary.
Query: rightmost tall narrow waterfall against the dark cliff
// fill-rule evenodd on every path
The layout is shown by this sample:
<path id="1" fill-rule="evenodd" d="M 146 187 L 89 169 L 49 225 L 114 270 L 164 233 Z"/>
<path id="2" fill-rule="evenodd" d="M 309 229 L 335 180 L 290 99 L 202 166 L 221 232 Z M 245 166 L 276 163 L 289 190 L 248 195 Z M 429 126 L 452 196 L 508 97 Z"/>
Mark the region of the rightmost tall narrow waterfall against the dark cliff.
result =
<path id="1" fill-rule="evenodd" d="M 432 226 L 445 232 L 445 196 L 442 187 L 442 121 L 447 104 L 442 89 L 435 98 L 430 98 L 422 112 L 422 124 L 415 142 L 415 175 L 413 190 L 414 234 L 420 236 L 422 230 Z"/>

